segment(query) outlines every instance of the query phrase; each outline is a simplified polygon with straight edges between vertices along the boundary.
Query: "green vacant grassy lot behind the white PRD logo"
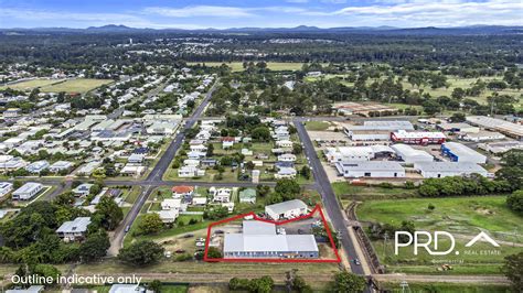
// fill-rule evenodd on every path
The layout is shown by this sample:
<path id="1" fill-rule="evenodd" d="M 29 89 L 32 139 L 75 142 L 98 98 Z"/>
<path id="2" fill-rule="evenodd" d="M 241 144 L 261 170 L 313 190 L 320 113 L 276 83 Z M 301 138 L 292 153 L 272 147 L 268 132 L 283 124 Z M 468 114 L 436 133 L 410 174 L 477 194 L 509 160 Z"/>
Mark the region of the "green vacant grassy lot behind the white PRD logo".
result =
<path id="1" fill-rule="evenodd" d="M 433 210 L 428 208 L 429 204 L 435 207 Z M 500 274 L 503 258 L 522 249 L 521 240 L 513 235 L 514 229 L 521 227 L 522 217 L 506 207 L 504 196 L 369 200 L 361 204 L 356 213 L 362 221 L 397 227 L 403 220 L 410 220 L 416 230 L 448 231 L 455 237 L 455 251 L 459 251 L 459 254 L 447 256 L 429 256 L 425 249 L 415 256 L 412 246 L 401 248 L 396 256 L 394 236 L 388 242 L 374 241 L 380 259 L 391 272 Z M 480 231 L 489 234 L 500 247 L 494 248 L 481 241 L 466 248 L 465 243 Z M 447 238 L 438 241 L 439 251 L 449 247 L 450 240 Z M 438 268 L 444 263 L 452 265 L 452 270 L 439 271 Z"/>

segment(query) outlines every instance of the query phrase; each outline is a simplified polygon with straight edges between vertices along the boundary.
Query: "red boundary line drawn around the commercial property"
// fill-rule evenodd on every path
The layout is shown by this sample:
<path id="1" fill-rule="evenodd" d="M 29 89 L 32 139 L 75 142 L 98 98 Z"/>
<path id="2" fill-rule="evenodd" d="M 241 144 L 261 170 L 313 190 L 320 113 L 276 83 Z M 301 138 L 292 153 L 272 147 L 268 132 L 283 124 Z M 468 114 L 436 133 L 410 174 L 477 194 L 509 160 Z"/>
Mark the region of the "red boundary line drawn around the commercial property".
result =
<path id="1" fill-rule="evenodd" d="M 282 225 L 282 224 L 295 221 L 295 220 L 311 218 L 312 215 L 314 215 L 316 211 L 320 213 L 321 220 L 323 221 L 323 227 L 325 228 L 327 235 L 329 236 L 329 242 L 330 242 L 331 247 L 334 250 L 335 259 L 255 259 L 255 258 L 253 258 L 253 259 L 249 259 L 249 258 L 210 259 L 210 258 L 207 258 L 209 241 L 211 240 L 211 230 L 216 225 L 224 224 L 224 223 L 227 223 L 227 221 L 233 221 L 233 220 L 241 219 L 241 218 L 244 218 L 244 217 L 247 217 L 247 216 L 253 216 L 253 218 L 255 220 L 270 223 L 270 224 L 275 224 L 275 225 Z M 334 246 L 334 239 L 332 238 L 331 230 L 329 228 L 329 225 L 325 220 L 325 216 L 323 215 L 323 210 L 321 209 L 320 205 L 316 205 L 316 207 L 312 209 L 312 211 L 310 211 L 307 215 L 303 215 L 303 216 L 300 216 L 300 217 L 297 217 L 297 218 L 292 218 L 292 219 L 280 220 L 280 221 L 263 219 L 263 218 L 259 218 L 258 216 L 256 216 L 256 214 L 254 211 L 250 211 L 250 213 L 247 213 L 247 214 L 237 215 L 237 216 L 234 216 L 232 218 L 227 218 L 227 219 L 223 219 L 223 220 L 212 223 L 207 227 L 207 238 L 205 239 L 205 251 L 203 253 L 203 260 L 207 261 L 207 262 L 335 262 L 335 263 L 341 262 L 340 254 L 338 252 L 338 249 Z"/>

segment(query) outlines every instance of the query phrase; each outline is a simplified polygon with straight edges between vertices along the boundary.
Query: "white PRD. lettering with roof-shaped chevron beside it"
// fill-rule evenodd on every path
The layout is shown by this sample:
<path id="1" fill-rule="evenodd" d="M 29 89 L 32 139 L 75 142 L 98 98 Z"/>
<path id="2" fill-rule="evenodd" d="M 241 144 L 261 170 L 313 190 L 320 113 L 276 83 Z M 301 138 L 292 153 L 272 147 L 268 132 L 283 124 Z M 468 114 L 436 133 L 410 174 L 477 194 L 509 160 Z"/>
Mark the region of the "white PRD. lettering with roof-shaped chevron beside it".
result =
<path id="1" fill-rule="evenodd" d="M 399 242 L 401 236 L 404 236 L 408 239 L 406 242 Z M 403 237 L 402 237 L 403 238 Z M 445 251 L 438 250 L 438 241 L 440 239 L 447 238 L 450 240 L 450 248 Z M 465 245 L 465 247 L 471 247 L 479 240 L 483 240 L 489 242 L 493 247 L 500 247 L 498 242 L 494 241 L 489 235 L 481 231 L 474 238 L 472 238 L 469 242 Z M 418 249 L 424 248 L 430 256 L 447 256 L 451 253 L 456 247 L 456 239 L 453 236 L 447 231 L 435 231 L 434 236 L 427 231 L 415 231 L 414 235 L 409 231 L 396 231 L 394 234 L 394 253 L 398 254 L 398 249 L 401 247 L 408 247 L 414 246 L 414 256 L 418 254 Z M 459 254 L 459 251 L 455 252 Z"/>

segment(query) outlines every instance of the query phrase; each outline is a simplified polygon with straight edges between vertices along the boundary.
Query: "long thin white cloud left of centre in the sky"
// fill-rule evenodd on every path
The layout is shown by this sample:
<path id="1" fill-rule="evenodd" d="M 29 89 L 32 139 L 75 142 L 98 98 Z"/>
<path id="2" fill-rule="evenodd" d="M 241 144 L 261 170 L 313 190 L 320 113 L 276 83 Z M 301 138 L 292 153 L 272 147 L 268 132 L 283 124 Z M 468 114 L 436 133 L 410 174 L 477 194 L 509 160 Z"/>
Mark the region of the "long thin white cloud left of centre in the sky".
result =
<path id="1" fill-rule="evenodd" d="M 214 17 L 214 18 L 248 18 L 253 14 L 243 8 L 237 7 L 214 7 L 195 6 L 184 8 L 149 7 L 143 10 L 146 14 L 158 14 L 169 18 L 194 18 L 194 17 Z"/>

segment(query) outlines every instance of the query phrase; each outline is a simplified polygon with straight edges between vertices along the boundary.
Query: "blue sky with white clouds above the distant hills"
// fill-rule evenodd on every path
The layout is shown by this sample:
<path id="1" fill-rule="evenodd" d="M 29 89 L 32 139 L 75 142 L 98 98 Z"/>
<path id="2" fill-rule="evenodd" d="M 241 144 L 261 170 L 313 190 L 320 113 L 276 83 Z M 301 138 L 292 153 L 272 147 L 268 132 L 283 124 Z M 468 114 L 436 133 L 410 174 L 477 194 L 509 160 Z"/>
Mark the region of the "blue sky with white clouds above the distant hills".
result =
<path id="1" fill-rule="evenodd" d="M 0 28 L 523 25 L 523 0 L 0 0 Z"/>

